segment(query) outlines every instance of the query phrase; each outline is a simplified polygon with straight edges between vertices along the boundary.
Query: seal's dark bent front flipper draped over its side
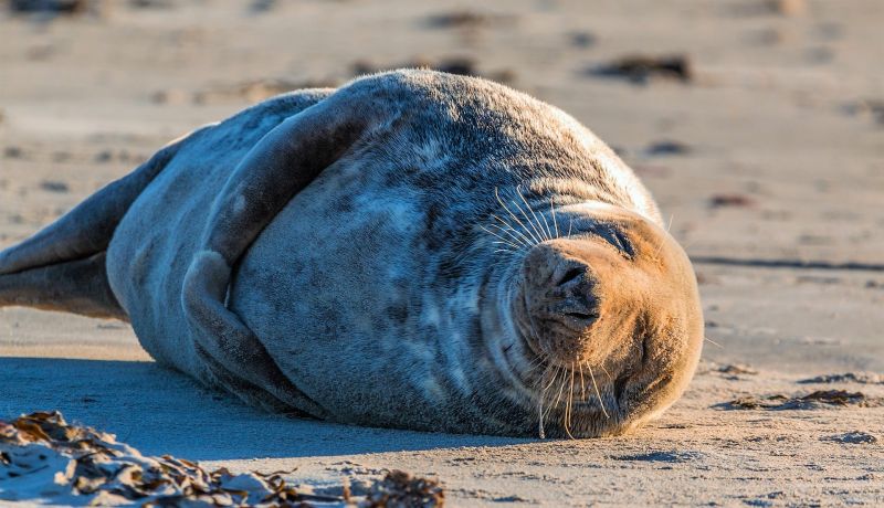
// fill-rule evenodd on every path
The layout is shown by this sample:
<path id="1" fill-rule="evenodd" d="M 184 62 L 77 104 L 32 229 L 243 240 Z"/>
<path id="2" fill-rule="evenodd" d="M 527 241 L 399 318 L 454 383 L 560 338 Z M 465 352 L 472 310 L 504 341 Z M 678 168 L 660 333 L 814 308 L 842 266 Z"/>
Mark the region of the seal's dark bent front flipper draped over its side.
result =
<path id="1" fill-rule="evenodd" d="M 377 94 L 344 88 L 286 119 L 259 141 L 215 199 L 200 252 L 185 277 L 182 305 L 198 345 L 211 360 L 317 417 L 325 410 L 288 381 L 224 301 L 232 267 L 264 226 L 371 127 L 396 115 L 390 110 L 396 103 Z"/>

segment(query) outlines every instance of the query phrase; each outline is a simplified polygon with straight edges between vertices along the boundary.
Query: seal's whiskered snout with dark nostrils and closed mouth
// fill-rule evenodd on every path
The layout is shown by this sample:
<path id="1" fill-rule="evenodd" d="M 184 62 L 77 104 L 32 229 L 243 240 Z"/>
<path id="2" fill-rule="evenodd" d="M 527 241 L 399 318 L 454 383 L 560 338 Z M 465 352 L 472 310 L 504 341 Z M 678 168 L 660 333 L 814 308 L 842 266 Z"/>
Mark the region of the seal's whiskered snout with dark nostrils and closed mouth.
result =
<path id="1" fill-rule="evenodd" d="M 570 364 L 592 348 L 601 317 L 599 281 L 590 263 L 561 242 L 537 245 L 523 265 L 523 305 L 529 341 L 550 360 Z"/>

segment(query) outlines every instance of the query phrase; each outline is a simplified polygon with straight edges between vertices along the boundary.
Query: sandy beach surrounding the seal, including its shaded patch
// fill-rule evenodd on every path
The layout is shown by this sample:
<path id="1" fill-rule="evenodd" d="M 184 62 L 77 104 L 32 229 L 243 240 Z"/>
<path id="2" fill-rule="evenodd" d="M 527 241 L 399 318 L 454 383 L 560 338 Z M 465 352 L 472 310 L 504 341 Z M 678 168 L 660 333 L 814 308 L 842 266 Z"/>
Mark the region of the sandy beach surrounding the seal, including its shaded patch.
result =
<path id="1" fill-rule="evenodd" d="M 695 262 L 711 342 L 660 421 L 540 442 L 266 415 L 158 368 L 126 325 L 6 308 L 0 417 L 59 409 L 147 454 L 297 467 L 320 490 L 403 468 L 455 506 L 884 504 L 884 2 L 13 3 L 0 247 L 253 102 L 429 65 L 533 94 L 614 147 Z M 630 55 L 678 65 L 618 67 Z M 845 392 L 800 399 L 818 390 Z"/>

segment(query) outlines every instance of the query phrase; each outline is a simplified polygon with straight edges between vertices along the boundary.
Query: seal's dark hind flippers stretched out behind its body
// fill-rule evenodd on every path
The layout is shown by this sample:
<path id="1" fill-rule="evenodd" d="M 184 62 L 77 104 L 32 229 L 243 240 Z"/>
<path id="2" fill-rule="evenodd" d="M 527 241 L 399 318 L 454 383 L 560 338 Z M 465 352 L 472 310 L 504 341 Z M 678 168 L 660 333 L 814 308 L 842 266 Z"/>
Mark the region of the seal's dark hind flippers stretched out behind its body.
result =
<path id="1" fill-rule="evenodd" d="M 39 233 L 0 252 L 0 307 L 126 319 L 107 282 L 105 251 L 123 215 L 177 147 L 164 148 Z"/>

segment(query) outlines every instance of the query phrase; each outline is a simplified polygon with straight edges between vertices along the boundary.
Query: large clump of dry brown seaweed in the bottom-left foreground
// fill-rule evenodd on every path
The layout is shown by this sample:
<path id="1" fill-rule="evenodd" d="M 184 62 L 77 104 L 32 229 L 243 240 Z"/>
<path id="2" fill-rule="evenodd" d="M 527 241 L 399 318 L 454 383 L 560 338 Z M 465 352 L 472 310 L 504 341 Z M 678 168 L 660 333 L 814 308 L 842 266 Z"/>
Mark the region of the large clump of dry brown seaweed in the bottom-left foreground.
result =
<path id="1" fill-rule="evenodd" d="M 175 458 L 145 457 L 110 434 L 69 425 L 59 412 L 38 412 L 0 421 L 0 499 L 50 500 L 62 505 L 137 501 L 165 506 L 442 506 L 439 483 L 392 472 L 358 500 L 315 495 L 290 485 L 283 475 L 206 470 Z"/>

